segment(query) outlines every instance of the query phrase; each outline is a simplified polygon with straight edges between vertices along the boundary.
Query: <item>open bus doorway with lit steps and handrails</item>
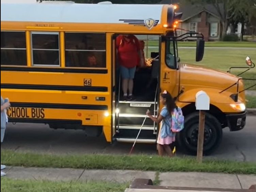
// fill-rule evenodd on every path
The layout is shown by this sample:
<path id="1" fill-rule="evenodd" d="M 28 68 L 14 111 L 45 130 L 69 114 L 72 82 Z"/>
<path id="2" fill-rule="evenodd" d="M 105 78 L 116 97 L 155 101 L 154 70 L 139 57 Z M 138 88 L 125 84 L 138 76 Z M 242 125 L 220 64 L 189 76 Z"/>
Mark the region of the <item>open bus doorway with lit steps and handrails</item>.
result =
<path id="1" fill-rule="evenodd" d="M 145 43 L 144 55 L 146 58 L 145 66 L 137 68 L 133 80 L 135 100 L 129 98 L 126 100 L 123 97 L 122 79 L 116 58 L 116 37 L 118 35 L 112 35 L 112 137 L 118 142 L 134 142 L 146 118 L 137 142 L 155 143 L 158 125 L 146 117 L 146 111 L 149 109 L 155 116 L 158 113 L 159 35 L 135 34 L 140 43 Z M 152 39 L 150 40 L 150 38 Z M 146 47 L 151 44 L 153 47 Z"/>

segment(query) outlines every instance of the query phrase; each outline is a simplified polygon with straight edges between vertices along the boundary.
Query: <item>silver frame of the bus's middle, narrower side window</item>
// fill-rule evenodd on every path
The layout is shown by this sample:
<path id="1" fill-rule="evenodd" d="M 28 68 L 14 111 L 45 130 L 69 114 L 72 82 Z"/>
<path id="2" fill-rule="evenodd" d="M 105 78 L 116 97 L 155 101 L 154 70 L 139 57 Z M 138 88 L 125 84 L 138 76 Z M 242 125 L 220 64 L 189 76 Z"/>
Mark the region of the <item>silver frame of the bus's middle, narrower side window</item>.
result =
<path id="1" fill-rule="evenodd" d="M 46 34 L 46 35 L 58 35 L 59 49 L 33 49 L 33 34 Z M 32 67 L 61 67 L 61 47 L 60 47 L 60 31 L 31 31 L 30 32 L 30 47 L 31 47 L 31 66 Z M 34 64 L 33 50 L 52 50 L 59 51 L 59 65 L 42 65 Z"/>

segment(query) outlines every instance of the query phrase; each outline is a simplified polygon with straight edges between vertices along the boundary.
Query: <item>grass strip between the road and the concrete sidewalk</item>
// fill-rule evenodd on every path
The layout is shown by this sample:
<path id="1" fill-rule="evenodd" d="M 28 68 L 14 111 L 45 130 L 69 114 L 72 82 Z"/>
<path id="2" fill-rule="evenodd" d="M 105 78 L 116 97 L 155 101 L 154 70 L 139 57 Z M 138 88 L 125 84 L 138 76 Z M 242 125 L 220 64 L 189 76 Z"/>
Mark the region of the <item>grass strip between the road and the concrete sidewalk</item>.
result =
<path id="1" fill-rule="evenodd" d="M 256 174 L 253 162 L 205 159 L 200 164 L 195 158 L 171 159 L 156 155 L 48 155 L 1 150 L 1 163 L 24 167 Z"/>

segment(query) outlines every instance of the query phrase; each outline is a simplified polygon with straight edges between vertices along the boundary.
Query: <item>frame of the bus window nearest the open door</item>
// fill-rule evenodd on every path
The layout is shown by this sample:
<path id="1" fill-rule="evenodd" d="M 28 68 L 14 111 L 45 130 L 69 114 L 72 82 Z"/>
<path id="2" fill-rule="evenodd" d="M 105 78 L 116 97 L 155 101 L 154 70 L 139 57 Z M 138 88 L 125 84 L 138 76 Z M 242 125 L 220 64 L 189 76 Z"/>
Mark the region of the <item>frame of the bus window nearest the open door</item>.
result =
<path id="1" fill-rule="evenodd" d="M 84 34 L 104 34 L 105 50 L 83 50 L 83 49 L 66 49 L 66 33 L 84 33 Z M 70 67 L 66 66 L 66 51 L 83 51 L 83 52 L 105 52 L 105 67 Z M 107 32 L 81 32 L 81 31 L 64 31 L 64 52 L 65 52 L 65 68 L 69 69 L 106 69 L 107 68 Z"/>

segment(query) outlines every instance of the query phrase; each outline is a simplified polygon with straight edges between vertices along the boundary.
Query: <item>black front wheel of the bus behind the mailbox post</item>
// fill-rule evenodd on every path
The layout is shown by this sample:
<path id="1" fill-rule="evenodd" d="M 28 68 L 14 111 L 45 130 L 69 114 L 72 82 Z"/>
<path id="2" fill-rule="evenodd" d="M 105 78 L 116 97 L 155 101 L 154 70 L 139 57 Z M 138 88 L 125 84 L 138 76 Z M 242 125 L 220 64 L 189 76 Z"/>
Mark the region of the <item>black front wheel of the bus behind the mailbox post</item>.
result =
<path id="1" fill-rule="evenodd" d="M 184 129 L 177 134 L 178 145 L 185 153 L 196 155 L 198 137 L 199 112 L 185 117 Z M 204 132 L 204 155 L 210 155 L 217 149 L 222 140 L 221 124 L 216 117 L 206 113 Z"/>

